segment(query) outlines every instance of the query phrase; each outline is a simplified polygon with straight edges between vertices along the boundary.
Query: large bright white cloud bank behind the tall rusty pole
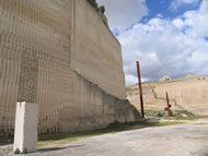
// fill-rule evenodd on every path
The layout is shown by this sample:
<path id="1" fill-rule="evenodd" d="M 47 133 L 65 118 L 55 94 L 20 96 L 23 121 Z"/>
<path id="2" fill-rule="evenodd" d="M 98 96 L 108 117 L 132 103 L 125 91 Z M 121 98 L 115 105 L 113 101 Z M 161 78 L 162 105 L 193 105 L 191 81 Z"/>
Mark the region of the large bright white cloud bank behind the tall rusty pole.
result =
<path id="1" fill-rule="evenodd" d="M 174 20 L 154 17 L 138 23 L 118 36 L 123 45 L 127 85 L 137 83 L 136 61 L 146 81 L 163 75 L 182 77 L 194 72 L 208 74 L 208 1 L 199 10 Z"/>

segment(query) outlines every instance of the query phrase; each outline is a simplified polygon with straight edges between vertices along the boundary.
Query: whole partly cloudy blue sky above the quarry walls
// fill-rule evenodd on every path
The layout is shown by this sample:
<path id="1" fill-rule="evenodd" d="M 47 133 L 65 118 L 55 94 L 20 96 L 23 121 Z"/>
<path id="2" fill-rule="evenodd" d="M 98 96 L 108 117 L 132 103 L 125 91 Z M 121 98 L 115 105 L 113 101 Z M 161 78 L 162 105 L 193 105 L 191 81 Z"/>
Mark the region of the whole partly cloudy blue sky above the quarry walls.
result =
<path id="1" fill-rule="evenodd" d="M 122 44 L 126 85 L 208 74 L 208 0 L 97 0 Z"/>

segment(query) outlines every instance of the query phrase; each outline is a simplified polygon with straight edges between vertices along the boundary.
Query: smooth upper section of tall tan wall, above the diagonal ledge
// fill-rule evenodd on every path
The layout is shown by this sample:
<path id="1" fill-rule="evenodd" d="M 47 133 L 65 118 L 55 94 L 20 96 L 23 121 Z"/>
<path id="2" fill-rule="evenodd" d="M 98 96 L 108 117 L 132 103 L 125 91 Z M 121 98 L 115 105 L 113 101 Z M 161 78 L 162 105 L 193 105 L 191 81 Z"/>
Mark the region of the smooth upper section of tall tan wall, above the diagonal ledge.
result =
<path id="1" fill-rule="evenodd" d="M 107 93 L 126 98 L 120 44 L 84 0 L 74 1 L 71 68 Z"/>

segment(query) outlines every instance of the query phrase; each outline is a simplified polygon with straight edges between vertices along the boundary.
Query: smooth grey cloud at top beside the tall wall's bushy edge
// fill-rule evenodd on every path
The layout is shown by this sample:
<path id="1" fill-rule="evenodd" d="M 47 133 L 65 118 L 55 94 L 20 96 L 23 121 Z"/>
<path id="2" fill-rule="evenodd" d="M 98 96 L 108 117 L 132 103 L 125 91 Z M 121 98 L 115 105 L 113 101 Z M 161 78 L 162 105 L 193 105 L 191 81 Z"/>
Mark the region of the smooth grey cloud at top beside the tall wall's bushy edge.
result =
<path id="1" fill-rule="evenodd" d="M 105 5 L 109 26 L 126 28 L 148 13 L 145 0 L 97 0 Z"/>

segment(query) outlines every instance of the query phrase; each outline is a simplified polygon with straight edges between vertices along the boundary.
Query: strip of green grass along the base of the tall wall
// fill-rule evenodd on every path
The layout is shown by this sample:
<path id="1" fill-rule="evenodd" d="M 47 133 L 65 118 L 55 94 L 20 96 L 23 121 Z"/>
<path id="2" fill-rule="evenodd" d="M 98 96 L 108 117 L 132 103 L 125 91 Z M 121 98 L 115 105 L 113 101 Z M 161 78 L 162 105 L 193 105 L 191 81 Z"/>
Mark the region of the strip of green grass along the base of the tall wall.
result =
<path id="1" fill-rule="evenodd" d="M 123 131 L 130 131 L 150 127 L 163 127 L 163 125 L 172 125 L 178 124 L 182 122 L 132 122 L 132 123 L 112 123 L 106 129 L 97 130 L 97 131 L 88 131 L 88 132 L 74 132 L 74 133 L 50 133 L 39 135 L 38 146 L 45 146 L 49 144 L 65 144 L 69 142 L 73 142 L 81 139 L 88 139 L 95 135 L 102 135 L 107 133 L 117 133 Z"/>

